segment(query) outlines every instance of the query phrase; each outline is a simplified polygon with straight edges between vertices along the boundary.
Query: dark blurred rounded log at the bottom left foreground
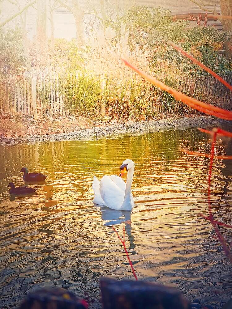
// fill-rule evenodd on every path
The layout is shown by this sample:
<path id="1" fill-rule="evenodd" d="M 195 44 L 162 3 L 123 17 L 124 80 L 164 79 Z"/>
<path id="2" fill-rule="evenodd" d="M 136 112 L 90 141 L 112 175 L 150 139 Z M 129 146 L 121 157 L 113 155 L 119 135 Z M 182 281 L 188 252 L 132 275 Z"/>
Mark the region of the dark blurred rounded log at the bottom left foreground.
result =
<path id="1" fill-rule="evenodd" d="M 20 309 L 85 309 L 86 302 L 64 289 L 41 289 L 29 294 Z"/>

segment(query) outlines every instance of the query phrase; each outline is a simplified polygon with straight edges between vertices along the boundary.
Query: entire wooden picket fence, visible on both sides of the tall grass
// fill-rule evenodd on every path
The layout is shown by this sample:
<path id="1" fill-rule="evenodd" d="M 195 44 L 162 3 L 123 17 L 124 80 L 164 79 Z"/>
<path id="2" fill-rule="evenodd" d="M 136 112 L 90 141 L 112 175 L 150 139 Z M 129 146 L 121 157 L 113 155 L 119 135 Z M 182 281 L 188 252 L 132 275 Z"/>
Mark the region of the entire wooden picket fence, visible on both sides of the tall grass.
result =
<path id="1" fill-rule="evenodd" d="M 105 77 L 101 79 L 104 98 Z M 232 83 L 232 76 L 224 77 Z M 162 78 L 164 82 L 165 77 Z M 197 99 L 211 100 L 217 106 L 231 110 L 232 96 L 228 88 L 211 76 L 175 77 L 173 85 Z M 105 99 L 102 99 L 100 113 L 105 115 Z M 64 105 L 64 93 L 57 72 L 27 72 L 21 75 L 0 76 L 0 112 L 3 114 L 31 115 L 35 120 L 55 118 L 69 114 Z"/>

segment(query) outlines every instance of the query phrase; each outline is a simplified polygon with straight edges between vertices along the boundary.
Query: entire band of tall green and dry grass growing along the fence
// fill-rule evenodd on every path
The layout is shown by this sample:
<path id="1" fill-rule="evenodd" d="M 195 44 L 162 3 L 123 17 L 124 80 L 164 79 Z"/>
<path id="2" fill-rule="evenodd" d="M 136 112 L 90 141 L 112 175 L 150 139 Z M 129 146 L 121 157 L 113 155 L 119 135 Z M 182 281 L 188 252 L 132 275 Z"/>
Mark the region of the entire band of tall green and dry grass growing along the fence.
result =
<path id="1" fill-rule="evenodd" d="M 159 50 L 150 51 L 147 44 L 137 44 L 132 50 L 128 37 L 129 32 L 122 24 L 119 35 L 111 27 L 102 29 L 89 39 L 82 50 L 73 44 L 68 50 L 68 45 L 63 46 L 61 42 L 57 53 L 50 56 L 51 65 L 43 71 L 43 80 L 38 81 L 37 99 L 45 111 L 42 112 L 41 108 L 41 117 L 59 115 L 60 110 L 62 114 L 100 116 L 103 102 L 105 116 L 118 119 L 147 120 L 195 115 L 195 111 L 144 81 L 122 63 L 120 58 L 124 57 L 166 85 L 189 94 L 183 89 L 185 74 L 180 65 L 163 58 L 153 61 L 154 53 L 159 53 Z M 195 91 L 194 95 L 211 103 L 202 91 Z M 54 96 L 59 99 L 51 106 Z"/>

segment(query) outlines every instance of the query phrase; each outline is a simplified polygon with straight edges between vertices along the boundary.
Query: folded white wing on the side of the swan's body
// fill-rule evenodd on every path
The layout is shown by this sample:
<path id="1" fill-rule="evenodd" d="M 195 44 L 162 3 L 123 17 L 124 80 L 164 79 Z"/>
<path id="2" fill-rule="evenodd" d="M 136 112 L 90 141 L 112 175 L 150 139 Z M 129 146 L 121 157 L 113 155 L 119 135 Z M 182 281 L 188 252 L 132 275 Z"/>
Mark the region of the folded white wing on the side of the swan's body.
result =
<path id="1" fill-rule="evenodd" d="M 105 205 L 111 209 L 120 209 L 125 195 L 118 185 L 110 178 L 111 176 L 103 176 L 100 181 L 100 194 Z"/>

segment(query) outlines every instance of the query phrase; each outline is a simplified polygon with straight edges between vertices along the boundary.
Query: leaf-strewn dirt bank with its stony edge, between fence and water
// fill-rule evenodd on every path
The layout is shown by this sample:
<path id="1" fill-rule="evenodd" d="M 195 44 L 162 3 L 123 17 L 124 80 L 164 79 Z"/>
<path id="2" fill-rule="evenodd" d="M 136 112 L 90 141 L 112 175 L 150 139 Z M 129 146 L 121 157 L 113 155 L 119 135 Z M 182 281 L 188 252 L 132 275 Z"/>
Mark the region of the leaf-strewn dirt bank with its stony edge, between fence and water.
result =
<path id="1" fill-rule="evenodd" d="M 33 119 L 1 118 L 0 142 L 2 145 L 14 145 L 24 142 L 62 141 L 97 138 L 112 134 L 132 132 L 154 132 L 172 127 L 205 127 L 210 125 L 232 124 L 214 117 L 174 118 L 150 121 L 117 121 L 110 117 L 78 119 L 74 116 L 61 118 L 56 121 L 36 123 Z"/>

